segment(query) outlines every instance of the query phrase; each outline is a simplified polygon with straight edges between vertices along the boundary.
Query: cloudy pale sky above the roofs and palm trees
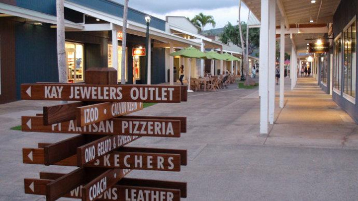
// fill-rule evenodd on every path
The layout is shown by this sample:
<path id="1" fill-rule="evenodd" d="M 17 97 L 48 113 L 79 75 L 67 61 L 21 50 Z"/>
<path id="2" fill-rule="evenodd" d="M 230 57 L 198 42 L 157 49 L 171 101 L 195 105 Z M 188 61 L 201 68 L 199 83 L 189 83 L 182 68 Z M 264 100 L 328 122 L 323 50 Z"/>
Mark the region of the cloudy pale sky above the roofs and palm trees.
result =
<path id="1" fill-rule="evenodd" d="M 119 3 L 124 0 L 113 0 Z M 204 3 L 203 3 L 204 2 Z M 215 28 L 224 27 L 228 22 L 237 24 L 239 19 L 239 0 L 129 0 L 129 7 L 165 20 L 165 16 L 184 16 L 193 18 L 202 12 L 212 15 Z M 241 20 L 247 21 L 249 9 L 243 4 Z M 213 28 L 210 24 L 204 30 Z"/>

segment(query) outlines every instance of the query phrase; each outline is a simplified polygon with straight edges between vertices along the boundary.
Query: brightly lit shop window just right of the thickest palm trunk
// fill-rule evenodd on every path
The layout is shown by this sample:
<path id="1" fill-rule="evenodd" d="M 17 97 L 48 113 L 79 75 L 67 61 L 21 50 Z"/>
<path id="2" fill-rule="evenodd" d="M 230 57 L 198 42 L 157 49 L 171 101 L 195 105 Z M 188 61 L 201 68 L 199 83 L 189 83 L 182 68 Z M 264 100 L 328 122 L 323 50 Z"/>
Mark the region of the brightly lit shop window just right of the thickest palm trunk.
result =
<path id="1" fill-rule="evenodd" d="M 84 82 L 84 44 L 66 42 L 65 48 L 68 69 L 68 82 Z"/>

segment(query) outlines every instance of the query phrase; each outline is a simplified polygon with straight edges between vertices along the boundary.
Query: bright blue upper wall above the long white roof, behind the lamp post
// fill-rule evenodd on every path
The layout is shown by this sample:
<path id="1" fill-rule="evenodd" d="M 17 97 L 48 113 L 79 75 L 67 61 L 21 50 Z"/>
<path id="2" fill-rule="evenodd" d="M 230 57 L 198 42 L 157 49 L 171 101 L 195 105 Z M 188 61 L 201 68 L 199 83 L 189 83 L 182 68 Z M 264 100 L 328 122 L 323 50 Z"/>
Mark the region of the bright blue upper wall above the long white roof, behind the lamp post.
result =
<path id="1" fill-rule="evenodd" d="M 123 5 L 109 0 L 68 0 L 91 9 L 99 10 L 111 15 L 123 17 Z M 144 17 L 147 14 L 138 10 L 128 8 L 128 20 L 146 24 Z M 165 31 L 166 21 L 151 17 L 150 26 Z"/>

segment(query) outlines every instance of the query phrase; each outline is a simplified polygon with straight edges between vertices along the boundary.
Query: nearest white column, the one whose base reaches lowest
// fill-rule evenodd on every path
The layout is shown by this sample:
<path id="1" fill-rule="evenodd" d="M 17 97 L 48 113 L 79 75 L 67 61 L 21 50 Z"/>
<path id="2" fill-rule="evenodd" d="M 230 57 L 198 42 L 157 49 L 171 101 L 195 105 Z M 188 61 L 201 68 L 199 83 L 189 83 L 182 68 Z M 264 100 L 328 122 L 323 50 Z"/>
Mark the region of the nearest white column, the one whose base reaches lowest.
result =
<path id="1" fill-rule="evenodd" d="M 261 31 L 260 31 L 260 135 L 269 132 L 269 0 L 261 0 Z"/>

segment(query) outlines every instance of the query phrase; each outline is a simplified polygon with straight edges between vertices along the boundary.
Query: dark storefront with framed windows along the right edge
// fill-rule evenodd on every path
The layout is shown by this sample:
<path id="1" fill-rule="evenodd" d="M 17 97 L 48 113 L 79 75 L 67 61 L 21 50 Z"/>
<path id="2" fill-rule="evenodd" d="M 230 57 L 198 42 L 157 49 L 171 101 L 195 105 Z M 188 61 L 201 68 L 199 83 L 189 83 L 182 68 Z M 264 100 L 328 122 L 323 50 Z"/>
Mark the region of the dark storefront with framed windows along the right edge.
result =
<path id="1" fill-rule="evenodd" d="M 356 0 L 342 0 L 334 14 L 333 100 L 358 122 Z"/>

